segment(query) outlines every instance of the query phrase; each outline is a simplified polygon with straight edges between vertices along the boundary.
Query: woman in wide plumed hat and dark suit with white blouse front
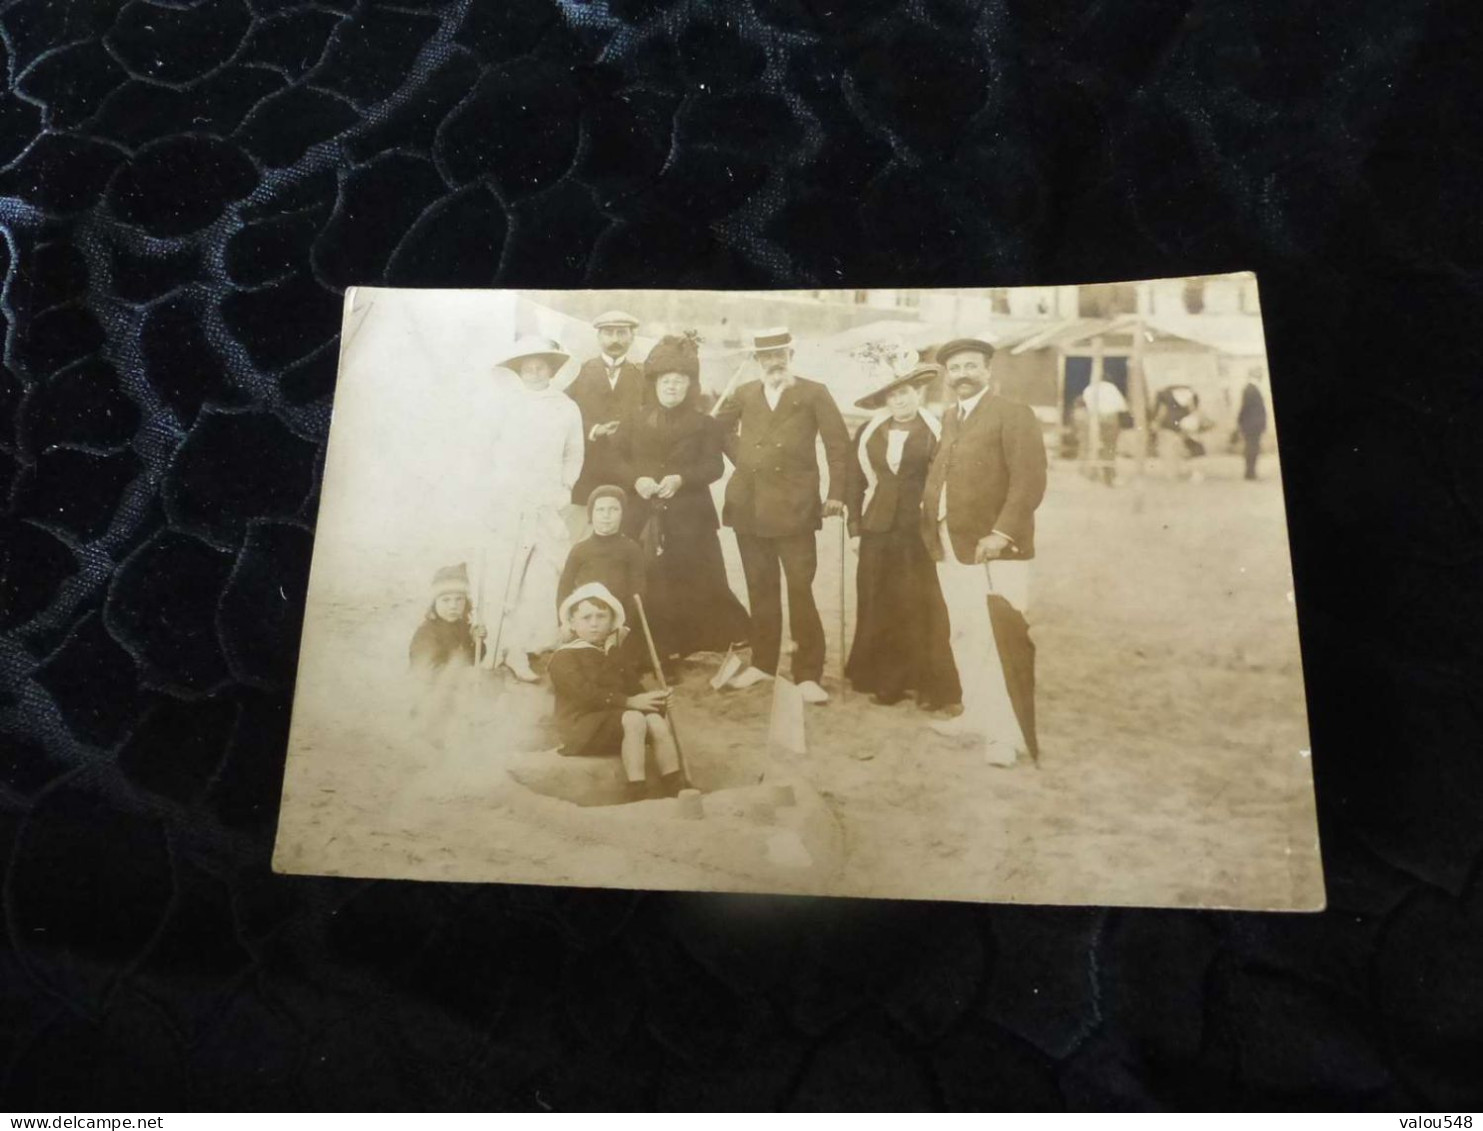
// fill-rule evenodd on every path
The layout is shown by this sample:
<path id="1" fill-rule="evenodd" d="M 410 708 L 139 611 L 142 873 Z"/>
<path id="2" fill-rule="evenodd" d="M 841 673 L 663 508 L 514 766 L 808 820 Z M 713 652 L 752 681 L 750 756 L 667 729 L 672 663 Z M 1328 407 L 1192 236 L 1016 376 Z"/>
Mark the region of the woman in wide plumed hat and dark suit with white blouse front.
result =
<path id="1" fill-rule="evenodd" d="M 854 437 L 850 532 L 859 535 L 859 606 L 845 674 L 872 703 L 916 692 L 924 710 L 960 703 L 948 606 L 937 566 L 921 538 L 922 488 L 942 425 L 921 409 L 940 374 L 922 365 L 856 402 L 872 417 Z"/>

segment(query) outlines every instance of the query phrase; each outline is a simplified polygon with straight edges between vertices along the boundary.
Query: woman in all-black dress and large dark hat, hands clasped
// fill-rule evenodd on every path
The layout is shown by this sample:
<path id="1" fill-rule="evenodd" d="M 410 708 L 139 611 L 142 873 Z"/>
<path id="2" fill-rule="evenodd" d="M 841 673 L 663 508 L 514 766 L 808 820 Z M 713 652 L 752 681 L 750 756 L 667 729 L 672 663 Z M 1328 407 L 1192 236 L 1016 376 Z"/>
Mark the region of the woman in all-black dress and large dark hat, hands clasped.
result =
<path id="1" fill-rule="evenodd" d="M 660 661 L 724 652 L 747 639 L 747 615 L 727 584 L 710 485 L 721 479 L 721 431 L 700 411 L 693 335 L 650 350 L 651 396 L 617 434 L 629 507 L 624 531 L 648 560 L 648 609 Z"/>

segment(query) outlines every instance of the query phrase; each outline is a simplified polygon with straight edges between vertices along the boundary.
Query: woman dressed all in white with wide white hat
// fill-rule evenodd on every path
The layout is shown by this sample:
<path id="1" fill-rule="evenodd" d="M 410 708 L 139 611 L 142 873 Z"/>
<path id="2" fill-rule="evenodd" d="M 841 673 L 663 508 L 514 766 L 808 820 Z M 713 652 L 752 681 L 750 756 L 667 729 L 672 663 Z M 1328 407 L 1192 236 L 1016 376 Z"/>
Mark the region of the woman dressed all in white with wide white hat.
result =
<path id="1" fill-rule="evenodd" d="M 552 385 L 569 354 L 549 338 L 521 338 L 497 365 L 519 378 L 489 421 L 480 457 L 483 667 L 504 664 L 535 682 L 531 657 L 561 642 L 556 588 L 571 550 L 562 510 L 581 474 L 581 414 Z M 480 433 L 482 433 L 480 422 Z"/>

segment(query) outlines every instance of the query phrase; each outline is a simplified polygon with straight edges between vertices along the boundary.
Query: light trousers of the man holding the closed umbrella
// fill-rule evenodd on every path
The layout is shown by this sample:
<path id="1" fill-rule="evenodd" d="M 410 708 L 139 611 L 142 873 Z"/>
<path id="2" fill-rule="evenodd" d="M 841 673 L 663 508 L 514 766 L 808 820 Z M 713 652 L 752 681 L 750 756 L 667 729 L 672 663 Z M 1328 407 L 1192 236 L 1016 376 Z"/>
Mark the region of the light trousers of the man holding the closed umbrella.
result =
<path id="1" fill-rule="evenodd" d="M 998 593 L 1022 614 L 1028 612 L 1031 563 L 989 562 L 988 569 L 982 563 L 962 565 L 952 551 L 946 522 L 937 523 L 937 535 L 943 551 L 937 580 L 952 628 L 952 660 L 962 683 L 962 722 L 967 729 L 983 734 L 991 760 L 1013 762 L 1017 754 L 1029 753 L 1029 746 L 1004 683 L 988 594 Z"/>

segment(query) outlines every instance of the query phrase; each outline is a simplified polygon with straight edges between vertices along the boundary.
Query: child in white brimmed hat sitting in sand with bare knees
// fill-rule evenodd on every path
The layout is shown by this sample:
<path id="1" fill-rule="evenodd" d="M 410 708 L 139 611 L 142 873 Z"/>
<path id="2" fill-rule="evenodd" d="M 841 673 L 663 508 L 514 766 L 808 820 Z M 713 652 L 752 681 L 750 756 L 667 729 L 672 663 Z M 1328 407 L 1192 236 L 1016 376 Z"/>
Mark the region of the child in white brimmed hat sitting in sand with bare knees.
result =
<path id="1" fill-rule="evenodd" d="M 623 602 L 601 583 L 574 590 L 561 606 L 561 623 L 575 637 L 552 655 L 547 673 L 556 691 L 556 732 L 564 754 L 623 759 L 623 775 L 636 800 L 647 792 L 648 750 L 654 750 L 666 793 L 681 786 L 679 752 L 664 717 L 667 691 L 644 691 L 623 657 L 618 639 Z"/>

